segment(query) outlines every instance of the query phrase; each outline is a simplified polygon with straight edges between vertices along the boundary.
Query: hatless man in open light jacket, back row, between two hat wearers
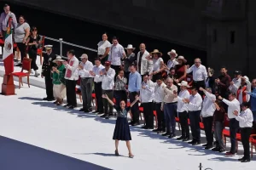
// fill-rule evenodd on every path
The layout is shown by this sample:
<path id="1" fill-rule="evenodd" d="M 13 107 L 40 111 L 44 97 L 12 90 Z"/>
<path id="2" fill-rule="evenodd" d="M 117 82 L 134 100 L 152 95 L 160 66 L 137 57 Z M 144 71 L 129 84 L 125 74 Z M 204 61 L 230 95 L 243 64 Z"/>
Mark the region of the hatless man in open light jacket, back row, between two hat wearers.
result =
<path id="1" fill-rule="evenodd" d="M 146 45 L 144 43 L 140 44 L 140 51 L 137 53 L 137 71 L 142 75 L 146 72 L 152 71 L 153 61 L 146 59 L 149 55 L 146 50 Z"/>

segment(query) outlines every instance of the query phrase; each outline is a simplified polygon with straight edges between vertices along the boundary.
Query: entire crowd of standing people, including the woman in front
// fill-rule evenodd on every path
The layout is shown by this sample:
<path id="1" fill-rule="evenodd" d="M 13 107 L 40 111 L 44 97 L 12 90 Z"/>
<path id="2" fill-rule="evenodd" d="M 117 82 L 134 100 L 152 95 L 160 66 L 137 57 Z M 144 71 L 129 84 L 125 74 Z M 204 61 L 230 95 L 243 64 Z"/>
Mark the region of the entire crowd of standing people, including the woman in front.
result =
<path id="1" fill-rule="evenodd" d="M 20 48 L 21 62 L 26 56 L 26 52 L 22 52 L 26 45 L 29 46 L 29 57 L 36 59 L 34 52 L 40 44 L 37 29 L 33 27 L 29 34 L 30 27 L 25 24 L 23 16 L 20 16 L 17 24 L 9 5 L 5 5 L 4 10 L 0 18 L 2 34 L 6 31 L 6 18 L 12 16 L 15 34 L 18 34 L 15 42 Z M 131 44 L 124 48 L 117 37 L 112 38 L 112 43 L 108 42 L 106 33 L 97 46 L 94 63 L 87 54 L 82 54 L 79 61 L 74 50 L 67 52 L 65 60 L 52 53 L 51 45 L 44 46 L 46 53 L 41 73 L 46 85 L 47 97 L 44 100 L 55 100 L 55 105 L 64 105 L 63 99 L 67 98 L 64 106 L 74 109 L 77 107 L 76 85 L 79 80 L 83 99 L 83 107 L 79 111 L 92 112 L 91 94 L 94 91 L 96 111 L 93 113 L 108 119 L 113 116 L 113 108 L 117 111 L 113 134 L 117 156 L 119 140 L 125 140 L 129 156 L 133 157 L 129 124 L 140 125 L 139 107 L 143 107 L 144 129 L 153 129 L 162 136 L 176 138 L 178 117 L 182 135 L 177 140 L 190 140 L 189 144 L 192 145 L 201 144 L 200 122 L 203 122 L 207 139 L 203 147 L 206 150 L 225 151 L 223 129 L 224 122 L 229 122 L 231 147 L 225 156 L 236 154 L 236 133 L 240 131 L 244 156 L 239 161 L 250 161 L 249 137 L 256 121 L 256 79 L 250 82 L 248 77 L 242 76 L 241 71 L 235 71 L 235 77 L 231 80 L 226 66 L 221 67 L 217 77 L 212 68 L 207 69 L 201 64 L 199 58 L 195 59 L 194 65 L 187 65 L 185 57 L 178 55 L 175 49 L 167 53 L 170 57 L 167 63 L 158 49 L 149 53 L 144 43 L 140 44 L 139 52 L 135 54 Z M 37 72 L 35 60 L 32 65 Z M 154 111 L 158 119 L 156 129 Z M 131 115 L 129 124 L 128 113 Z"/>

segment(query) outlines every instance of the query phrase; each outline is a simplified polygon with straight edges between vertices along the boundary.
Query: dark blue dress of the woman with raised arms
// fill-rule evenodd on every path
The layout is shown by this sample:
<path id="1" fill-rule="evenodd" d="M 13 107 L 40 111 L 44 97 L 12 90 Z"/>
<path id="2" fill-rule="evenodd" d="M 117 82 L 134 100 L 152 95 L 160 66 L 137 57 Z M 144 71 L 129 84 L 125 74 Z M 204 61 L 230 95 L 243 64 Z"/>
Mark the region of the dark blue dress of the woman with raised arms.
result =
<path id="1" fill-rule="evenodd" d="M 131 140 L 130 127 L 127 121 L 127 114 L 131 107 L 125 107 L 124 111 L 117 105 L 113 105 L 113 108 L 117 111 L 118 116 L 113 131 L 113 139 L 125 141 Z"/>

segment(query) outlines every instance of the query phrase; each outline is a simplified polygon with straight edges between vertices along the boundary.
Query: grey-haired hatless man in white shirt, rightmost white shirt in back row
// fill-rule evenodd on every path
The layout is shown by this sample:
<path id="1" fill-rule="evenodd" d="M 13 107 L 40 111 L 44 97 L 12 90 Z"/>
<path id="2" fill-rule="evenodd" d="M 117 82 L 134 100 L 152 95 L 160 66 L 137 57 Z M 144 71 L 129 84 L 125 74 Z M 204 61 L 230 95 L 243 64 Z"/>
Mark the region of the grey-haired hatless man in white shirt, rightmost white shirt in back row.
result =
<path id="1" fill-rule="evenodd" d="M 206 80 L 208 77 L 207 69 L 204 65 L 201 65 L 201 59 L 195 59 L 195 65 L 192 65 L 187 69 L 187 73 L 193 72 L 193 86 L 199 90 L 199 88 L 206 88 Z M 203 92 L 200 92 L 201 96 Z"/>

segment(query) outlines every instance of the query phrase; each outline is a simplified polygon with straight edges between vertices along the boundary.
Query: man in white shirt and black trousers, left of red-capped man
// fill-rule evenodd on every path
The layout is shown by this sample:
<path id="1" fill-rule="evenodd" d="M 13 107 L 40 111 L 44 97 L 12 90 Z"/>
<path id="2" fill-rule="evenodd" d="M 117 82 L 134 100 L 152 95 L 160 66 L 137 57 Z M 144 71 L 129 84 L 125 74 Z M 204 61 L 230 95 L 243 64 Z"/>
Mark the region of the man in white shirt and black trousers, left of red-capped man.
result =
<path id="1" fill-rule="evenodd" d="M 90 71 L 90 76 L 94 77 L 94 91 L 96 95 L 96 111 L 93 113 L 98 113 L 102 115 L 103 113 L 103 100 L 102 100 L 102 78 L 100 72 L 105 67 L 101 64 L 101 59 L 95 59 L 95 66 Z"/>

